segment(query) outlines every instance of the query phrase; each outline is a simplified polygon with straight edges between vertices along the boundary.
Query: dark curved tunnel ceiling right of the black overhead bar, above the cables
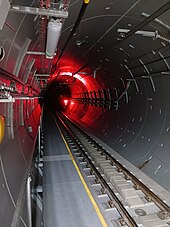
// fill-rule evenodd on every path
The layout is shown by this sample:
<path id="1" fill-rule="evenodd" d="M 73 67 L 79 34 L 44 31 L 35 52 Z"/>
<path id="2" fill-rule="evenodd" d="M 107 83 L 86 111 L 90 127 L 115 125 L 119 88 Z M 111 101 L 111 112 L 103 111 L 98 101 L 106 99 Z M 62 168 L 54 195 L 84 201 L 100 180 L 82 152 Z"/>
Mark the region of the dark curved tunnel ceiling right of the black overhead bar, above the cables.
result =
<path id="1" fill-rule="evenodd" d="M 160 72 L 161 67 L 158 66 L 157 60 L 160 60 L 161 56 L 155 50 L 163 51 L 166 56 L 166 46 L 169 43 L 159 38 L 147 37 L 147 34 L 132 34 L 128 39 L 121 41 L 123 34 L 118 33 L 118 29 L 132 30 L 146 19 L 142 14 L 152 15 L 167 2 L 157 0 L 153 4 L 153 1 L 90 1 L 58 68 L 69 66 L 71 71 L 75 72 L 88 64 L 81 71 L 93 75 L 97 69 L 97 76 L 102 78 L 106 85 L 115 78 L 146 75 L 145 65 L 142 64 L 149 62 L 153 62 L 147 65 L 150 73 Z M 81 4 L 82 1 L 70 2 L 69 17 L 64 22 L 58 53 L 74 26 Z M 158 31 L 158 34 L 168 38 L 169 30 L 164 26 L 169 22 L 168 16 L 169 10 L 157 17 L 157 21 L 152 21 L 140 30 L 155 34 Z M 161 61 L 159 63 L 162 64 Z M 128 69 L 132 68 L 135 68 L 134 71 L 129 72 Z"/>

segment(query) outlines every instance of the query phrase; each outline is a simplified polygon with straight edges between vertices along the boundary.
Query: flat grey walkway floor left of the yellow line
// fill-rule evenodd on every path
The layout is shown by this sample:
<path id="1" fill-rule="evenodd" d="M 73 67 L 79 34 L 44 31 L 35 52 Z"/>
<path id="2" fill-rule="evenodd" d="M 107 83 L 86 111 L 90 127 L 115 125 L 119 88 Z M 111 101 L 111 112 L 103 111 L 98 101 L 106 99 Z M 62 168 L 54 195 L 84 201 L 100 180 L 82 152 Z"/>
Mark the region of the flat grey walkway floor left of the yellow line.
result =
<path id="1" fill-rule="evenodd" d="M 44 110 L 43 162 L 44 227 L 102 226 L 48 109 Z"/>

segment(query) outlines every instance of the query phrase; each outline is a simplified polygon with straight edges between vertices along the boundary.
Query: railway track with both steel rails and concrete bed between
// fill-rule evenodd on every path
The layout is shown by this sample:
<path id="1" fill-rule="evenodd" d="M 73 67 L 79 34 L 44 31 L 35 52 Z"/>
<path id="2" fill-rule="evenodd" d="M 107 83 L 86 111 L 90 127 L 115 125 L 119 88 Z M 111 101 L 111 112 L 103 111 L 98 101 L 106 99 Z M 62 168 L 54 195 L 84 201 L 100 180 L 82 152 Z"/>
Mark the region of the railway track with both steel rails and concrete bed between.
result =
<path id="1" fill-rule="evenodd" d="M 170 226 L 163 200 L 64 115 L 57 124 L 108 226 Z"/>

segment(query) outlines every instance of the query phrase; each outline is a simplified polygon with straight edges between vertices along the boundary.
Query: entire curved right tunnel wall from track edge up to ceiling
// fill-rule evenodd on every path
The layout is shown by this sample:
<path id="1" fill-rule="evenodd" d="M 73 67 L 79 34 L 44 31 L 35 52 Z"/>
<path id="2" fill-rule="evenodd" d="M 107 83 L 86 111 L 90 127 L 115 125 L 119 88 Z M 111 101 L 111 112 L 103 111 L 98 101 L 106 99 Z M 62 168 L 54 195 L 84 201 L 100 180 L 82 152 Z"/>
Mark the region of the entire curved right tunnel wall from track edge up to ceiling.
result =
<path id="1" fill-rule="evenodd" d="M 119 105 L 117 110 L 109 110 L 76 101 L 67 113 L 170 190 L 170 50 L 169 28 L 164 26 L 169 24 L 169 10 L 140 29 L 158 31 L 165 39 L 132 34 L 122 41 L 117 32 L 119 28 L 133 29 L 144 20 L 143 12 L 152 15 L 166 3 L 92 1 L 89 4 L 80 29 L 69 44 L 69 53 L 77 60 L 89 62 L 91 71 L 89 68 L 87 71 L 91 73 L 81 75 L 87 80 L 87 91 L 112 89 L 112 99 L 118 100 Z M 77 7 L 78 4 L 71 4 L 71 20 L 65 23 L 60 46 L 70 32 Z M 82 41 L 81 45 L 77 45 L 78 41 Z M 65 56 L 61 64 L 67 65 Z M 95 69 L 98 70 L 93 79 Z M 127 94 L 122 95 L 124 91 Z M 75 88 L 72 98 L 80 100 Z"/>

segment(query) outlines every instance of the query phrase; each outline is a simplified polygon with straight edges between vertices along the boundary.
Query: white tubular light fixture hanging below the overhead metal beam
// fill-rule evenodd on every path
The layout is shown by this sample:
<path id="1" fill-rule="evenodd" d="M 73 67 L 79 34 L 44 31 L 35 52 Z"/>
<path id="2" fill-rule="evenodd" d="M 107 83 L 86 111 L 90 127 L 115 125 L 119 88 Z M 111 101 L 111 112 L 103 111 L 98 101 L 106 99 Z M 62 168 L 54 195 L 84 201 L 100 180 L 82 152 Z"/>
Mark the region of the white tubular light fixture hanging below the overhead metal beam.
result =
<path id="1" fill-rule="evenodd" d="M 51 19 L 47 28 L 46 58 L 53 59 L 61 35 L 62 23 Z"/>

